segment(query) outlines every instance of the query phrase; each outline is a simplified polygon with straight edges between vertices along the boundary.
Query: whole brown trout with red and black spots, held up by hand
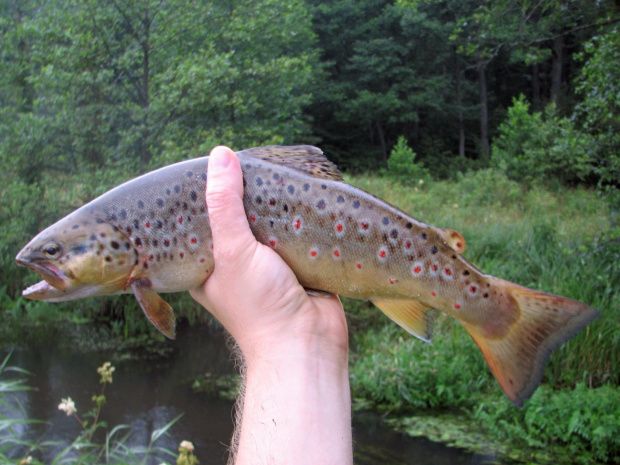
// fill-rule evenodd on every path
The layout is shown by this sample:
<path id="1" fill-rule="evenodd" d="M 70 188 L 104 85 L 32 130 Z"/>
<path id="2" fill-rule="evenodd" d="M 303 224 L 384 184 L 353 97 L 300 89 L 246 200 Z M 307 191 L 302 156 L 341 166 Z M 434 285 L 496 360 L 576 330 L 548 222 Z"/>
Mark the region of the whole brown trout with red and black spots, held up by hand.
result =
<path id="1" fill-rule="evenodd" d="M 462 257 L 459 233 L 344 183 L 315 147 L 237 155 L 254 235 L 309 292 L 370 300 L 425 341 L 435 310 L 453 316 L 517 405 L 536 389 L 551 351 L 598 316 L 577 301 L 483 274 Z M 157 293 L 192 289 L 214 267 L 207 160 L 145 174 L 42 231 L 16 257 L 43 278 L 23 295 L 59 302 L 133 293 L 155 327 L 173 338 L 174 314 Z"/>

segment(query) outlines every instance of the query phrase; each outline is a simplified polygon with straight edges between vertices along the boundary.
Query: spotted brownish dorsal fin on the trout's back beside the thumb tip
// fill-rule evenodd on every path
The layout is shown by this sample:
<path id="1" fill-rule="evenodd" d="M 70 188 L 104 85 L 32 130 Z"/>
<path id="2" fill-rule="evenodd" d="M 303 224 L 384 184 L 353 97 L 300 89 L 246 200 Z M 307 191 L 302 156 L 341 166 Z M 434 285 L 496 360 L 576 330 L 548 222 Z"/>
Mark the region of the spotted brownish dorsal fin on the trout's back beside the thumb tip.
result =
<path id="1" fill-rule="evenodd" d="M 312 145 L 268 145 L 237 152 L 237 155 L 258 158 L 276 165 L 287 166 L 317 178 L 342 181 L 335 164 Z"/>

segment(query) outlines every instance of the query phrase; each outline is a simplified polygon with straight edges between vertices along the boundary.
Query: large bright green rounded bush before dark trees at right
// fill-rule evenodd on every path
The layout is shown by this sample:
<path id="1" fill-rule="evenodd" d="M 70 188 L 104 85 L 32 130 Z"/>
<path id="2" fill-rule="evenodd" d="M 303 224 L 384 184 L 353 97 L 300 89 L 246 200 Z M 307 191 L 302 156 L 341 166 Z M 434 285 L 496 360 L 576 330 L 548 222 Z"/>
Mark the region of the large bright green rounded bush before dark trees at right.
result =
<path id="1" fill-rule="evenodd" d="M 592 172 L 591 139 L 558 116 L 553 104 L 544 113 L 529 110 L 523 95 L 513 99 L 493 143 L 492 163 L 511 179 L 528 184 L 583 181 Z"/>

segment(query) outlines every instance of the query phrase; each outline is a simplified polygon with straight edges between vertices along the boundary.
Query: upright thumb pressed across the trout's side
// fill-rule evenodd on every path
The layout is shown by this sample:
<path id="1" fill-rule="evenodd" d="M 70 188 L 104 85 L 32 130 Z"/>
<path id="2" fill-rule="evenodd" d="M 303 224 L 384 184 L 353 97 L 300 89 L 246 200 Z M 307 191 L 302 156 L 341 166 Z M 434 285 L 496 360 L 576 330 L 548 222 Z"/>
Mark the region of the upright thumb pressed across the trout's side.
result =
<path id="1" fill-rule="evenodd" d="M 235 153 L 215 147 L 207 170 L 207 208 L 214 254 L 245 250 L 255 241 L 243 208 L 243 174 Z"/>

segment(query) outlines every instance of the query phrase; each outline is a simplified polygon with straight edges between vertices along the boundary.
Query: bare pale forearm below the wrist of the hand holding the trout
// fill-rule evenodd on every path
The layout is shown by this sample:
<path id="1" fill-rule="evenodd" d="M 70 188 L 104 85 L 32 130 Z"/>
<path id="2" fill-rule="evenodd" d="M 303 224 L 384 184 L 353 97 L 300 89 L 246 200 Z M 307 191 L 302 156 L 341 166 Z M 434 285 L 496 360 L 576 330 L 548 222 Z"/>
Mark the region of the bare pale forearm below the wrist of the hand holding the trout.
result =
<path id="1" fill-rule="evenodd" d="M 236 465 L 353 462 L 346 350 L 294 341 L 246 363 Z"/>

